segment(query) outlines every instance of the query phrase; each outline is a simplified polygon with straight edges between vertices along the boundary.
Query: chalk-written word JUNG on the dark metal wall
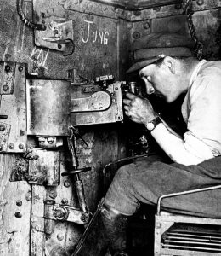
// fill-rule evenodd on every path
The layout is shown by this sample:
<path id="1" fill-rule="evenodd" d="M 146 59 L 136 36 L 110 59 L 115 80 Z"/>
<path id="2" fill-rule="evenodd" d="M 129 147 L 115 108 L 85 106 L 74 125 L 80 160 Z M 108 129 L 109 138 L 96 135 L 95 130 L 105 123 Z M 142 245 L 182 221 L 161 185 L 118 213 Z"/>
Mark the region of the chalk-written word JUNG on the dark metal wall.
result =
<path id="1" fill-rule="evenodd" d="M 88 43 L 89 40 L 92 40 L 93 43 L 98 42 L 99 44 L 108 44 L 109 32 L 98 31 L 97 29 L 93 31 L 92 25 L 93 21 L 84 20 L 87 23 L 86 32 L 84 33 L 85 37 L 82 38 L 84 44 Z"/>

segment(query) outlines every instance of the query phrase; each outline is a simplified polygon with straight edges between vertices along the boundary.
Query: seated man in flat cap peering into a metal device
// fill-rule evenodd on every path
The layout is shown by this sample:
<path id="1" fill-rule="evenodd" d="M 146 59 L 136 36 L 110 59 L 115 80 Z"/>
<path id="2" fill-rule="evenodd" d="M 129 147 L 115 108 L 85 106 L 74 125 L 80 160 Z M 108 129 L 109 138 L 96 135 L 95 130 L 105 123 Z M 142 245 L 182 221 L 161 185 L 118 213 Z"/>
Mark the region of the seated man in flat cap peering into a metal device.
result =
<path id="1" fill-rule="evenodd" d="M 74 255 L 105 255 L 107 246 L 111 255 L 127 255 L 122 242 L 127 216 L 140 203 L 153 205 L 161 195 L 221 182 L 221 61 L 198 61 L 184 41 L 180 43 L 181 47 L 169 44 L 168 48 L 161 40 L 161 47 L 150 49 L 128 72 L 138 71 L 147 93 L 168 103 L 185 94 L 182 115 L 188 131 L 184 137 L 167 126 L 148 99 L 127 93 L 123 100 L 127 116 L 145 125 L 173 163 L 144 158 L 122 166 L 95 214 L 99 231 L 90 230 L 91 236 L 85 244 L 80 241 Z M 162 206 L 171 212 L 221 218 L 219 194 L 216 190 L 182 195 L 166 199 Z"/>

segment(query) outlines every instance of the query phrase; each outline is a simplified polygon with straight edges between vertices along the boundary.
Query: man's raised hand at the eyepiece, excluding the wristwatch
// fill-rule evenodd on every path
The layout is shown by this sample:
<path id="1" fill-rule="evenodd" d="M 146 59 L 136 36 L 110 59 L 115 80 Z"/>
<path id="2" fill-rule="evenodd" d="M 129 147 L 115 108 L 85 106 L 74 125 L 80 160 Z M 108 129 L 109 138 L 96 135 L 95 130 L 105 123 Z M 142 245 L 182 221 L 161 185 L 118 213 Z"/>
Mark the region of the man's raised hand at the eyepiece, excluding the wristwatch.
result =
<path id="1" fill-rule="evenodd" d="M 132 93 L 127 93 L 126 96 L 127 99 L 123 100 L 125 113 L 133 122 L 145 125 L 156 118 L 157 115 L 148 99 Z"/>

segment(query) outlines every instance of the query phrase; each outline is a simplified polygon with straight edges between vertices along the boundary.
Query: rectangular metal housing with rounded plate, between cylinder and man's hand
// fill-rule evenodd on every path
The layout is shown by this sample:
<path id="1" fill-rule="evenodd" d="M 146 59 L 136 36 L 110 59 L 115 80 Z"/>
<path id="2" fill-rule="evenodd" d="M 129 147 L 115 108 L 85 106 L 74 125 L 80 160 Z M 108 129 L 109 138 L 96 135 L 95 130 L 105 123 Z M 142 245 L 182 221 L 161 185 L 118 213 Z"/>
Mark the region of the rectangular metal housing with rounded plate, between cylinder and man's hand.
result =
<path id="1" fill-rule="evenodd" d="M 99 78 L 101 84 L 73 84 L 71 86 L 71 125 L 95 125 L 122 122 L 122 84 L 107 83 L 107 76 Z M 97 79 L 98 80 L 98 79 Z M 105 83 L 105 87 L 104 87 Z"/>

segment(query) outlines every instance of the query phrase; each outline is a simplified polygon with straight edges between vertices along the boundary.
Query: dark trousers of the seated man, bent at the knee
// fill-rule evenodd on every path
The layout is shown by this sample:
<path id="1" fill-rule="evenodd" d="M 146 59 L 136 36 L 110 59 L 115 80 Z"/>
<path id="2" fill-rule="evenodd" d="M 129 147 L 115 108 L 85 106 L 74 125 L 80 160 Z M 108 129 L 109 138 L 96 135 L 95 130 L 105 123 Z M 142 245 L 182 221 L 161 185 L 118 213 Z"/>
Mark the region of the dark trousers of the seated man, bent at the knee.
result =
<path id="1" fill-rule="evenodd" d="M 161 195 L 200 189 L 221 183 L 221 157 L 196 166 L 166 164 L 151 157 L 122 166 L 105 195 L 105 204 L 122 214 L 133 215 L 140 202 L 156 204 Z M 221 189 L 163 200 L 170 212 L 221 218 Z"/>

